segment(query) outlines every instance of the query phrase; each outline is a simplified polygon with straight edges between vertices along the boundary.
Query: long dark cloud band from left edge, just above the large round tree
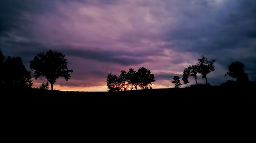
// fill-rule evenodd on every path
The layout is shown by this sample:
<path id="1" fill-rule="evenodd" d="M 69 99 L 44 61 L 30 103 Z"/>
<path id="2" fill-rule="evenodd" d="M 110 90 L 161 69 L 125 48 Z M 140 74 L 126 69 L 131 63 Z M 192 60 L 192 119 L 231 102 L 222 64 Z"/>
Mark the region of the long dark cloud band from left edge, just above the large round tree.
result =
<path id="1" fill-rule="evenodd" d="M 74 56 L 83 59 L 90 59 L 104 63 L 115 63 L 120 65 L 138 65 L 145 62 L 151 62 L 151 59 L 148 59 L 148 55 L 163 55 L 158 51 L 151 53 L 148 51 L 143 52 L 130 52 L 122 50 L 99 50 L 98 48 L 83 48 L 79 49 L 75 46 L 67 45 L 45 45 L 37 42 L 14 42 L 6 41 L 4 44 L 0 44 L 4 53 L 11 53 L 8 56 L 17 56 L 20 55 L 27 63 L 31 61 L 37 53 L 46 52 L 47 50 L 56 50 L 64 53 L 66 56 Z"/>

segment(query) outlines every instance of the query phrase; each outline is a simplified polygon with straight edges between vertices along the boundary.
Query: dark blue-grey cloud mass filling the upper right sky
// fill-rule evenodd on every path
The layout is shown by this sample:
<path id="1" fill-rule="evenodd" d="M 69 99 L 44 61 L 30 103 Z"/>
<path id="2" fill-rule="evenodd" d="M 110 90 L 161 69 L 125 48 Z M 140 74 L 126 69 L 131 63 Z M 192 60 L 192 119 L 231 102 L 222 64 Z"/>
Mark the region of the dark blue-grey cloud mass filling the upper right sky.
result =
<path id="1" fill-rule="evenodd" d="M 224 67 L 241 61 L 255 81 L 256 1 L 207 1 L 197 4 L 198 9 L 193 2 L 197 1 L 190 1 L 178 24 L 170 24 L 163 38 L 172 44 L 165 48 L 203 54 Z"/>

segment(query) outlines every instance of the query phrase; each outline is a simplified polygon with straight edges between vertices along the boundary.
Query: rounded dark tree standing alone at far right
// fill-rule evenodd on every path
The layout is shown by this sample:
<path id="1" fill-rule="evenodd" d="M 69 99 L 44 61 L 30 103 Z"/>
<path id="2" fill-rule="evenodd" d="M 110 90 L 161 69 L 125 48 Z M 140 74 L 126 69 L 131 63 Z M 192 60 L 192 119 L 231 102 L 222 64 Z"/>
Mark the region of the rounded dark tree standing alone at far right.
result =
<path id="1" fill-rule="evenodd" d="M 238 82 L 247 82 L 249 80 L 247 73 L 244 72 L 244 64 L 241 62 L 232 62 L 228 66 L 226 75 L 237 78 Z"/>

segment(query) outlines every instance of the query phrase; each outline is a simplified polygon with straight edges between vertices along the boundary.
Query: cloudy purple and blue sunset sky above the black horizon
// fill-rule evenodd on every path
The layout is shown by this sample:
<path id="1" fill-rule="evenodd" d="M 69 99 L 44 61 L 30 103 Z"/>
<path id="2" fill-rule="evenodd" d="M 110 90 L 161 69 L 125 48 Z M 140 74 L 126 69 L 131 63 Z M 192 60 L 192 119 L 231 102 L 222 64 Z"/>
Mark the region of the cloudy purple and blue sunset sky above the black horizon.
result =
<path id="1" fill-rule="evenodd" d="M 0 49 L 28 70 L 37 53 L 65 54 L 74 72 L 55 83 L 63 91 L 106 91 L 108 73 L 140 67 L 155 74 L 153 89 L 173 88 L 173 76 L 201 55 L 216 59 L 211 85 L 233 80 L 224 75 L 236 61 L 256 81 L 255 17 L 255 0 L 6 0 Z M 34 87 L 42 82 L 33 77 Z"/>

